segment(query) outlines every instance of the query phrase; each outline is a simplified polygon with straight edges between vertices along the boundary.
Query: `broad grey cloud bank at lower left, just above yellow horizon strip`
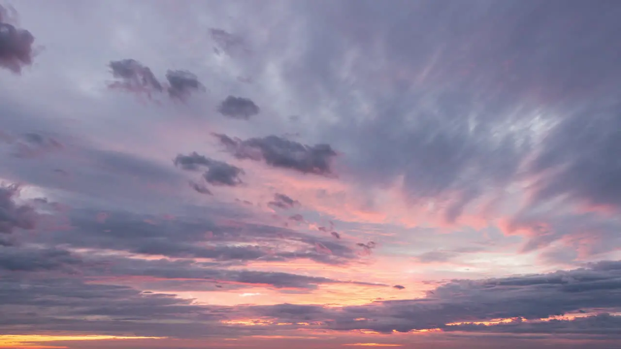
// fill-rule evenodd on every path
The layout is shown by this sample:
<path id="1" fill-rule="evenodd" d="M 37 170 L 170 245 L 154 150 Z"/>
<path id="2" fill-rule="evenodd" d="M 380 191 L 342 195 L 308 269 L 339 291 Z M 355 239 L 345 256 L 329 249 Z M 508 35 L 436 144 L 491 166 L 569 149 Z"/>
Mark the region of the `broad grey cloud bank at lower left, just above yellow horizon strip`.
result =
<path id="1" fill-rule="evenodd" d="M 181 299 L 174 294 L 83 283 L 76 278 L 6 277 L 0 280 L 0 311 L 11 314 L 0 319 L 3 333 L 30 333 L 31 329 L 36 329 L 118 335 L 129 331 L 151 337 L 195 338 L 196 331 L 203 335 L 222 332 L 219 320 L 227 319 L 226 312 L 232 314 L 232 310 L 230 307 L 199 306 L 191 299 Z"/>

